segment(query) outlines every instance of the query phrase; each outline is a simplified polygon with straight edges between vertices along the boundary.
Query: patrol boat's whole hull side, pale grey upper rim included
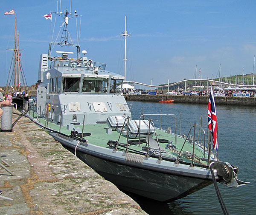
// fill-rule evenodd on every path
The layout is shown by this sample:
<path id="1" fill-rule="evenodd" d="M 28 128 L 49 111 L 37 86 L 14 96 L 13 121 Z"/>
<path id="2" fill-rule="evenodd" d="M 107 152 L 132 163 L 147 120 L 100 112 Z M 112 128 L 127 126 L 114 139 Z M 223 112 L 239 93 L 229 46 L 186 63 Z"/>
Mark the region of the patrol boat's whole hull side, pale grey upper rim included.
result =
<path id="1" fill-rule="evenodd" d="M 60 134 L 50 134 L 74 152 L 78 141 L 70 141 Z M 173 171 L 164 165 L 144 164 L 149 159 L 141 163 L 131 162 L 126 160 L 123 152 L 113 153 L 110 148 L 81 144 L 76 148 L 76 156 L 119 189 L 157 201 L 171 202 L 212 184 L 212 179 L 207 174 L 199 175 L 196 171 L 193 173 L 193 170 L 183 172 L 189 170 L 189 166 L 176 167 Z"/>

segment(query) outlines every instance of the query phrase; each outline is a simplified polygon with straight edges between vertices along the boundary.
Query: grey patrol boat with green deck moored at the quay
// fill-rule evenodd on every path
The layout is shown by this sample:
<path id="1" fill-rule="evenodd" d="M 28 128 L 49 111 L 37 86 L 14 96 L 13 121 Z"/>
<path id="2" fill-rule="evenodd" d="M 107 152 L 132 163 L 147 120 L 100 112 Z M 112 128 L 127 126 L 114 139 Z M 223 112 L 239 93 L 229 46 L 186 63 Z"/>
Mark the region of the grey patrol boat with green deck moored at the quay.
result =
<path id="1" fill-rule="evenodd" d="M 122 96 L 124 76 L 106 70 L 106 65 L 85 57 L 86 51 L 68 40 L 69 17 L 60 42 L 49 44 L 42 54 L 35 104 L 27 116 L 56 141 L 70 149 L 97 173 L 126 190 L 157 201 L 170 202 L 200 190 L 213 181 L 239 187 L 238 168 L 214 158 L 210 147 L 195 139 L 198 125 L 186 135 L 154 126 L 151 117 L 179 118 L 173 114 L 143 114 L 131 118 L 131 106 Z M 53 46 L 75 48 L 56 51 Z M 192 135 L 193 133 L 193 135 Z"/>

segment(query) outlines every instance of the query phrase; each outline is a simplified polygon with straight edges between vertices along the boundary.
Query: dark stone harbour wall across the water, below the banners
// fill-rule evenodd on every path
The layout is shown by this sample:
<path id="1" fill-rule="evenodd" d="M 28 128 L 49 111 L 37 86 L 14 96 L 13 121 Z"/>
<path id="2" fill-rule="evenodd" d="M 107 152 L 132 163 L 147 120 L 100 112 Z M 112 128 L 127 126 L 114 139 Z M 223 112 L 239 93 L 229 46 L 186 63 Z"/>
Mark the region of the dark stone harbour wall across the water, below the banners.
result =
<path id="1" fill-rule="evenodd" d="M 208 96 L 170 96 L 170 95 L 124 95 L 126 101 L 158 102 L 160 100 L 174 100 L 175 103 L 208 104 Z M 256 98 L 215 96 L 218 105 L 256 106 Z"/>

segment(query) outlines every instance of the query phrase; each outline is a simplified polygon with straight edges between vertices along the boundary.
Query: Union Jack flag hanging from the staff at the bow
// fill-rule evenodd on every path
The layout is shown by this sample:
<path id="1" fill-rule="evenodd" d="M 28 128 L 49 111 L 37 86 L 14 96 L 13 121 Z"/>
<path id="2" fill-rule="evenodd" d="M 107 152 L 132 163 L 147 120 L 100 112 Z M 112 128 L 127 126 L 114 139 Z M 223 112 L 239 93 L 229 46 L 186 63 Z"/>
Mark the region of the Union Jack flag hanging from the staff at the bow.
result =
<path id="1" fill-rule="evenodd" d="M 212 142 L 213 148 L 218 151 L 218 131 L 217 131 L 217 116 L 216 116 L 216 107 L 215 107 L 215 100 L 214 100 L 214 93 L 212 91 L 209 95 L 209 102 L 208 102 L 208 128 L 212 133 Z"/>

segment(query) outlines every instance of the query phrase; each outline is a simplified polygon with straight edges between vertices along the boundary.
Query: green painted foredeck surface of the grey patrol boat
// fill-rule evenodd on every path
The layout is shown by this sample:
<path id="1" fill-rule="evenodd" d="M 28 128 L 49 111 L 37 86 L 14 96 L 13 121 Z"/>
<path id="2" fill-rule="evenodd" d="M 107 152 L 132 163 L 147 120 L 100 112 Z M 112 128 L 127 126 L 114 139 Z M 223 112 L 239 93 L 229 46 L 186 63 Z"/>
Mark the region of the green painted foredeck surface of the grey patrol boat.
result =
<path id="1" fill-rule="evenodd" d="M 34 117 L 37 118 L 37 114 L 34 113 Z M 46 125 L 45 123 L 45 118 L 41 118 L 40 120 L 42 125 Z M 39 120 L 38 120 L 39 122 Z M 58 124 L 55 124 L 54 122 L 48 121 L 48 126 L 52 130 L 59 131 L 60 126 Z M 75 125 L 75 127 L 79 127 L 82 130 L 82 124 L 80 125 Z M 106 130 L 108 129 L 108 124 L 84 124 L 84 133 L 91 133 L 90 136 L 84 137 L 84 139 L 87 140 L 89 144 L 94 144 L 100 147 L 106 147 L 109 148 L 108 146 L 108 141 L 109 140 L 114 140 L 117 141 L 119 139 L 120 133 L 117 131 L 113 131 L 112 133 L 106 133 Z M 160 146 L 164 148 L 164 150 L 167 151 L 167 153 L 162 153 L 162 155 L 170 157 L 170 158 L 176 158 L 178 156 L 178 153 L 183 146 L 183 143 L 185 141 L 184 138 L 181 138 L 180 136 L 177 136 L 177 144 L 175 144 L 175 135 L 173 133 L 169 134 L 166 133 L 164 130 L 157 129 L 157 138 L 158 139 L 166 139 L 166 140 L 171 140 L 172 144 L 174 144 L 177 149 L 176 150 L 170 150 L 166 149 L 166 144 L 167 143 L 160 143 Z M 64 133 L 66 135 L 70 135 L 71 131 L 67 130 L 67 126 L 62 126 L 61 127 L 61 133 Z M 152 136 L 154 139 L 156 139 L 156 136 Z M 139 136 L 137 139 L 129 139 L 129 140 L 139 140 Z M 192 141 L 193 142 L 193 141 Z M 119 139 L 120 144 L 126 144 L 126 135 L 121 135 Z M 141 144 L 136 144 L 136 145 L 129 145 L 128 150 L 130 152 L 134 152 L 133 150 L 140 151 L 142 152 L 142 147 L 146 146 L 145 143 Z M 119 147 L 120 149 L 125 150 L 124 147 Z M 189 143 L 189 141 L 186 141 L 186 144 L 183 147 L 182 152 L 184 151 L 189 151 L 191 154 L 193 152 L 193 144 Z M 146 151 L 143 151 L 145 153 Z M 158 154 L 159 155 L 159 154 Z M 192 156 L 191 156 L 192 157 Z M 180 155 L 179 158 L 182 158 L 185 162 L 192 163 L 192 158 L 186 158 Z M 195 159 L 194 162 L 195 164 L 207 164 L 205 161 L 199 161 L 197 158 L 204 158 L 204 149 L 201 147 L 199 144 L 195 144 Z M 207 153 L 205 154 L 205 158 L 207 158 Z"/>

